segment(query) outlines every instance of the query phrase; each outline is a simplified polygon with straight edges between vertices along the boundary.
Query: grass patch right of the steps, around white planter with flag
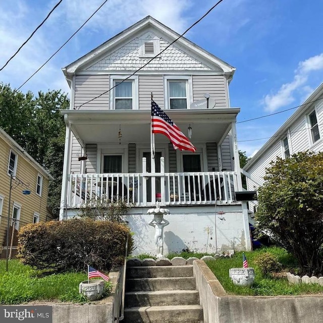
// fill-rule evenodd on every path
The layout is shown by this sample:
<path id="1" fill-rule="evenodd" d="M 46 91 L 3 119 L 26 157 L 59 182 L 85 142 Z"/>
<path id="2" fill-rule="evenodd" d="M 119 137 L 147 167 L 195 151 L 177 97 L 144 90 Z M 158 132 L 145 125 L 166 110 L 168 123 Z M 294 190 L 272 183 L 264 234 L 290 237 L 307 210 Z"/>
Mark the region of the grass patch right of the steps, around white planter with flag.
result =
<path id="1" fill-rule="evenodd" d="M 253 260 L 262 252 L 270 252 L 276 255 L 283 265 L 283 271 L 289 271 L 295 268 L 295 259 L 284 249 L 278 247 L 262 248 L 252 252 L 245 252 L 249 267 L 255 270 L 255 280 L 251 288 L 245 288 L 233 285 L 230 277 L 230 268 L 242 267 L 242 252 L 237 252 L 233 258 L 224 258 L 206 261 L 213 274 L 218 278 L 221 285 L 228 294 L 235 295 L 302 295 L 302 294 L 322 294 L 323 286 L 319 284 L 289 284 L 284 277 L 275 278 L 275 276 L 265 276 Z"/>

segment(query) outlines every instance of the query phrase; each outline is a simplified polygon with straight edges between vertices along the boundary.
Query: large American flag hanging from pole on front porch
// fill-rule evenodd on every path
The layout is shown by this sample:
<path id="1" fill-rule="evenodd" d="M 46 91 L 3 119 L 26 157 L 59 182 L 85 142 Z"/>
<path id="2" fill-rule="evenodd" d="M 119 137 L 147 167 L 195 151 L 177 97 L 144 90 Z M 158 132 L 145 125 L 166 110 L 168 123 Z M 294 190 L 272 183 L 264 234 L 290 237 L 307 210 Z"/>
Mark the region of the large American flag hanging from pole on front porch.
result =
<path id="1" fill-rule="evenodd" d="M 152 133 L 161 133 L 167 136 L 171 140 L 174 149 L 196 151 L 196 148 L 180 128 L 153 100 L 151 100 L 151 128 Z"/>

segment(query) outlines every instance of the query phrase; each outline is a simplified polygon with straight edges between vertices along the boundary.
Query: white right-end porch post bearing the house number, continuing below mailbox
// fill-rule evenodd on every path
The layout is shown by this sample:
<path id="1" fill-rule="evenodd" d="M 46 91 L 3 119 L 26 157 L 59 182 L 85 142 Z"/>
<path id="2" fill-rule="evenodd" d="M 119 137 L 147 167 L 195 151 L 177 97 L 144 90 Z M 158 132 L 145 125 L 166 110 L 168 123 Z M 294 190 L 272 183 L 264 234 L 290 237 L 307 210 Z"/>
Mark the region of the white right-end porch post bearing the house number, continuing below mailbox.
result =
<path id="1" fill-rule="evenodd" d="M 231 123 L 231 133 L 232 133 L 232 140 L 233 140 L 234 170 L 237 174 L 238 190 L 242 191 L 238 139 L 237 139 L 237 130 L 236 130 L 236 123 L 235 122 Z M 247 202 L 242 201 L 241 204 L 242 204 L 241 205 L 242 206 L 242 221 L 243 221 L 243 230 L 244 230 L 244 236 L 245 236 L 245 241 L 246 241 L 246 250 L 251 250 L 251 238 L 250 238 Z"/>

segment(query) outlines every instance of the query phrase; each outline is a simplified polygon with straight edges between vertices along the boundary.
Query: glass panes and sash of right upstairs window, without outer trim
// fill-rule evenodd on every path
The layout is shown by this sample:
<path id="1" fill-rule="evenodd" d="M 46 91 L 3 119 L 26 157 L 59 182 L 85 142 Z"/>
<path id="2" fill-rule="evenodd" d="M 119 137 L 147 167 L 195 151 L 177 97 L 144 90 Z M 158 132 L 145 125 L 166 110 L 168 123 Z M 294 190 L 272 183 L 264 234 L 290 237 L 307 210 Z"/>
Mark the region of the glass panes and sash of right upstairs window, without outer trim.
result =
<path id="1" fill-rule="evenodd" d="M 170 109 L 187 109 L 187 81 L 169 80 L 168 88 Z"/>

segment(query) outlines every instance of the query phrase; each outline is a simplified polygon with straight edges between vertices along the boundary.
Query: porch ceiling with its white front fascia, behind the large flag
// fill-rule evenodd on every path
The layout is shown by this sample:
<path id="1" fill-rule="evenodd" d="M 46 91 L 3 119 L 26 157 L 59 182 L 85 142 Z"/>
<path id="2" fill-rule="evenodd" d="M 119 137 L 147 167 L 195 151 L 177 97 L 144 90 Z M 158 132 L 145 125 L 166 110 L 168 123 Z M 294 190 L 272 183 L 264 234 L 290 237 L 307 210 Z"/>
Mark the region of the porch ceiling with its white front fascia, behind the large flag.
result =
<path id="1" fill-rule="evenodd" d="M 210 110 L 168 110 L 168 116 L 182 132 L 188 135 L 192 127 L 192 143 L 220 142 L 226 135 L 231 123 L 236 121 L 240 109 Z M 62 110 L 65 122 L 71 126 L 76 138 L 87 143 L 119 143 L 118 133 L 121 126 L 122 143 L 150 142 L 150 110 L 131 111 L 75 111 Z M 156 143 L 169 142 L 160 134 L 155 135 Z"/>

